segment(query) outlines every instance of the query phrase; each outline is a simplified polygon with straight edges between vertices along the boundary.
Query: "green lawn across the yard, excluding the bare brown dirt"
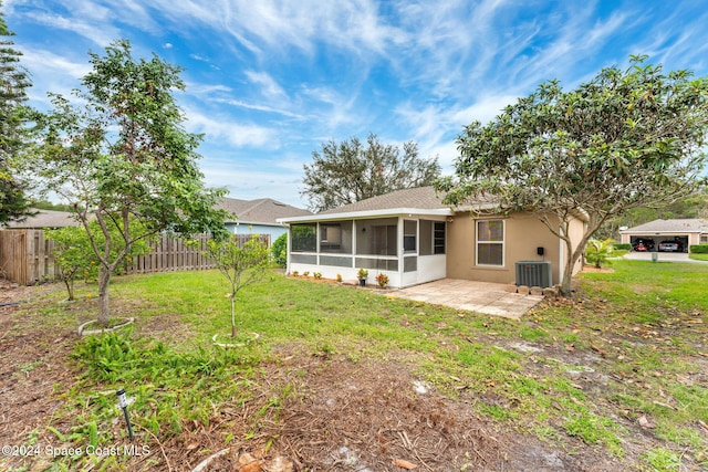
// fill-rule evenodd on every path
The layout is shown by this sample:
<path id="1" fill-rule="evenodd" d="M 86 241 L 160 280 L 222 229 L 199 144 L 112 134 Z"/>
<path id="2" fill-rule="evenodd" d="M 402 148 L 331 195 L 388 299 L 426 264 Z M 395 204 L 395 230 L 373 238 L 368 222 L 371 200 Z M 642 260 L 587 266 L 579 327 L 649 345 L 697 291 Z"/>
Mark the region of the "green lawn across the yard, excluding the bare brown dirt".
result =
<path id="1" fill-rule="evenodd" d="M 124 387 L 136 398 L 136 424 L 165 440 L 186 421 L 209 424 L 218 406 L 262 395 L 262 370 L 283 353 L 335 354 L 395 359 L 452 399 L 493 394 L 501 400 L 472 408 L 542 439 L 631 455 L 636 470 L 708 468 L 708 265 L 616 261 L 613 269 L 583 274 L 574 303 L 544 303 L 520 322 L 273 275 L 238 296 L 238 329 L 261 337 L 227 350 L 210 344 L 230 333 L 219 273 L 116 277 L 114 315 L 135 316 L 135 328 L 76 343 L 75 382 L 46 431 L 66 444 L 113 443 L 124 432 L 111 422 L 115 398 L 102 392 Z M 63 293 L 44 296 L 13 316 L 44 329 L 75 327 L 93 316 L 95 285 L 77 294 L 71 305 L 59 303 Z M 268 408 L 292 396 L 280 386 Z M 645 421 L 654 443 L 631 451 Z M 102 466 L 112 463 L 121 458 Z"/>

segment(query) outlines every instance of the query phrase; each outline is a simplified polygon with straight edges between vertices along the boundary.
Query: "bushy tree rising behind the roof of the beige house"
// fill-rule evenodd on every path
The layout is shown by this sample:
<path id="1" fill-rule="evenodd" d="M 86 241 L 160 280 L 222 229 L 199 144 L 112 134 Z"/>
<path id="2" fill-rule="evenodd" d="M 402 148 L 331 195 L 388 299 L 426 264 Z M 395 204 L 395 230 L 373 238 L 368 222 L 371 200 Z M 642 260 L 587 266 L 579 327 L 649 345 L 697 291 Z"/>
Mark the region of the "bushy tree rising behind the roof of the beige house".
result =
<path id="1" fill-rule="evenodd" d="M 431 185 L 440 176 L 437 157 L 421 159 L 415 141 L 384 145 L 374 134 L 366 144 L 353 137 L 322 144 L 304 166 L 304 190 L 312 211 L 324 211 L 394 190 Z"/>

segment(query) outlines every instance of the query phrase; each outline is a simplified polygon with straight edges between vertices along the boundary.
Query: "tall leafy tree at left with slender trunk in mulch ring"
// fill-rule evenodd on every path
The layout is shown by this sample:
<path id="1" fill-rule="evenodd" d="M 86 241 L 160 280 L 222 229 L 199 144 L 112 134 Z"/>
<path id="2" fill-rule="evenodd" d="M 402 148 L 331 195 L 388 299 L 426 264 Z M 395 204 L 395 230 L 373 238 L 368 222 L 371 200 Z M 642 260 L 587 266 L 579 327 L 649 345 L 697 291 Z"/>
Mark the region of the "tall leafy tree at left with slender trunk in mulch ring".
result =
<path id="1" fill-rule="evenodd" d="M 223 212 L 214 210 L 223 192 L 204 186 L 200 136 L 183 128 L 173 95 L 184 88 L 180 69 L 156 55 L 133 57 L 126 40 L 90 57 L 93 70 L 74 92 L 84 105 L 53 96 L 30 170 L 86 230 L 100 262 L 98 322 L 106 325 L 111 274 L 137 242 L 165 230 L 222 234 L 226 228 Z"/>

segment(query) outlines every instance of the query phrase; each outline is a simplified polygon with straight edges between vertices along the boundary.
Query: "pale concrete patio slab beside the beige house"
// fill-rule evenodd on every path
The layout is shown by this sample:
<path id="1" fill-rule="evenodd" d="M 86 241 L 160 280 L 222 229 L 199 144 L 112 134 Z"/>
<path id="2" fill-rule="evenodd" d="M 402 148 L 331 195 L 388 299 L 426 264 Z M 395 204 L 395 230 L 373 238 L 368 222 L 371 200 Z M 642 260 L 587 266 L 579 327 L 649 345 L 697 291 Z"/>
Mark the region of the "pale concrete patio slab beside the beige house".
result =
<path id="1" fill-rule="evenodd" d="M 519 319 L 543 300 L 539 295 L 511 293 L 504 284 L 458 279 L 442 279 L 409 286 L 389 292 L 388 295 L 512 319 Z"/>

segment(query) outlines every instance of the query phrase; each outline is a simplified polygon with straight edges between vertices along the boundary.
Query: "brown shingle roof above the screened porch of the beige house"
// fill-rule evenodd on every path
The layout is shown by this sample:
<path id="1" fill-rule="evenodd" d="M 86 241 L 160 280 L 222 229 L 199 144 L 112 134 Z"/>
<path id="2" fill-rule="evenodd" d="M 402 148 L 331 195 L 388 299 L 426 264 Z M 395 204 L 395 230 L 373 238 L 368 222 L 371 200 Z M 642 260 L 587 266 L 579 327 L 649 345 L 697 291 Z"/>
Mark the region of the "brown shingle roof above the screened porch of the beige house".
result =
<path id="1" fill-rule="evenodd" d="M 393 208 L 442 210 L 448 207 L 442 204 L 442 196 L 439 196 L 433 187 L 419 187 L 415 189 L 396 190 L 391 193 L 326 210 L 317 214 L 351 213 L 356 211 L 388 210 Z"/>

